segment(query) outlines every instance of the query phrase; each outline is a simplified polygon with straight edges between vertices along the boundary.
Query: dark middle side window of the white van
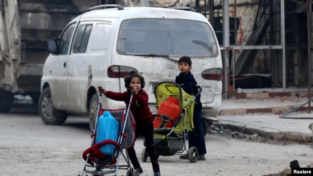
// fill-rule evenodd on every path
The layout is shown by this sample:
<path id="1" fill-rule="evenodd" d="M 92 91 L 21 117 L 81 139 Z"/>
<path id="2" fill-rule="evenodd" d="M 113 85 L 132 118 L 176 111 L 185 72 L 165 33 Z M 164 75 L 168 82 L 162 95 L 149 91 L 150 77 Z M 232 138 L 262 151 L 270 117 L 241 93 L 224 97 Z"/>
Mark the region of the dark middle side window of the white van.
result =
<path id="1" fill-rule="evenodd" d="M 91 29 L 92 25 L 82 25 L 78 28 L 73 46 L 74 53 L 86 52 Z"/>

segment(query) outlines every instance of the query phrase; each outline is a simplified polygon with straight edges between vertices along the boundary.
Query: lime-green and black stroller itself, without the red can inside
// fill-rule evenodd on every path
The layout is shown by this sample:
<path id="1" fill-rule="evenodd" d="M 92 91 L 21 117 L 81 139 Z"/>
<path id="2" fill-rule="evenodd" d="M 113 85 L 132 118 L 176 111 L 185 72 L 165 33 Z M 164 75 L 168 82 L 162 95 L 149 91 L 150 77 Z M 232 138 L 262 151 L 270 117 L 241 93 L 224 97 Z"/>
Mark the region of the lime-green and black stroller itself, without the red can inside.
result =
<path id="1" fill-rule="evenodd" d="M 164 84 L 164 86 L 162 85 Z M 161 90 L 157 90 L 158 87 L 162 85 L 164 88 L 166 87 L 166 91 L 168 92 L 164 92 L 164 93 L 160 93 Z M 193 121 L 192 121 L 192 116 L 193 116 L 193 104 L 195 102 L 195 98 L 197 96 L 200 95 L 200 93 L 202 92 L 202 88 L 199 85 L 196 85 L 198 87 L 198 93 L 193 95 L 189 95 L 187 94 L 181 87 L 181 85 L 174 83 L 174 82 L 160 82 L 159 84 L 157 84 L 154 87 L 154 94 L 155 94 L 155 99 L 156 99 L 156 104 L 155 107 L 157 109 L 159 109 L 160 104 L 167 99 L 168 96 L 175 96 L 175 97 L 179 97 L 180 100 L 180 105 L 181 105 L 181 113 L 180 115 L 177 117 L 177 119 L 174 121 L 170 116 L 167 116 L 165 114 L 153 114 L 153 118 L 155 118 L 156 116 L 161 117 L 162 121 L 164 122 L 172 122 L 173 126 L 172 128 L 158 128 L 155 129 L 154 128 L 154 145 L 155 148 L 157 149 L 157 154 L 159 155 L 164 155 L 164 156 L 169 156 L 169 155 L 174 155 L 174 154 L 181 154 L 184 151 L 187 151 L 188 153 L 188 158 L 189 161 L 191 163 L 195 163 L 198 161 L 198 157 L 199 157 L 199 153 L 198 153 L 198 149 L 196 147 L 190 147 L 190 149 L 188 149 L 186 146 L 186 133 L 190 130 L 193 129 Z M 174 87 L 179 89 L 179 93 L 178 92 L 174 92 L 171 93 L 170 88 Z M 161 89 L 160 88 L 160 89 Z M 183 94 L 185 95 L 183 97 Z M 183 100 L 184 99 L 184 100 Z M 159 102 L 158 102 L 159 100 Z M 186 128 L 187 124 L 186 124 L 186 117 L 185 115 L 189 116 L 189 122 L 187 122 L 190 126 L 188 126 L 188 128 Z M 181 127 L 182 126 L 182 127 Z M 178 127 L 178 128 L 177 128 Z M 180 133 L 177 133 L 180 132 Z M 183 140 L 181 142 L 175 143 L 173 142 L 173 145 L 179 145 L 179 147 L 174 146 L 176 148 L 171 148 L 170 145 L 170 140 L 174 141 L 174 140 Z M 166 140 L 166 141 L 165 141 Z M 180 143 L 180 144 L 179 144 Z M 168 145 L 168 146 L 164 146 L 164 145 Z M 168 147 L 168 148 L 166 148 Z M 167 150 L 168 149 L 168 150 Z M 161 152 L 161 153 L 158 153 Z M 142 161 L 146 162 L 147 161 L 147 157 L 148 157 L 148 153 L 146 152 L 146 148 L 143 149 L 142 151 Z"/>

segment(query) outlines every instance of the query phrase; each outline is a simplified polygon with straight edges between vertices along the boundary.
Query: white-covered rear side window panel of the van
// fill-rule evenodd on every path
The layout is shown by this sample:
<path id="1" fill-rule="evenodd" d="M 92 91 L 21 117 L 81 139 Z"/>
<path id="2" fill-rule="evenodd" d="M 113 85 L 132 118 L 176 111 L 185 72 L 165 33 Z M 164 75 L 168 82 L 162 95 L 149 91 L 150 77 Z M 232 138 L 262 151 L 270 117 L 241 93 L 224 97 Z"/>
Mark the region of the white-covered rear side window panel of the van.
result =
<path id="1" fill-rule="evenodd" d="M 111 24 L 96 24 L 90 37 L 90 52 L 101 52 L 108 49 L 112 35 Z"/>

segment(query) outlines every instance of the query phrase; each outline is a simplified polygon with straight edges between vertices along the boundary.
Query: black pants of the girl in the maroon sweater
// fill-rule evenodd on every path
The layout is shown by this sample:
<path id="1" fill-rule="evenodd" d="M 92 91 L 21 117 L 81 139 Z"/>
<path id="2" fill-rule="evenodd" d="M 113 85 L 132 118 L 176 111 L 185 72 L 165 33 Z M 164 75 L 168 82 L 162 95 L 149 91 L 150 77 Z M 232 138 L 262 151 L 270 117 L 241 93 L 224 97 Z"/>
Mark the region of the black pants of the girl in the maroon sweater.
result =
<path id="1" fill-rule="evenodd" d="M 146 142 L 147 152 L 150 156 L 153 172 L 160 172 L 160 166 L 158 162 L 157 152 L 155 151 L 155 146 L 153 145 L 153 124 L 147 126 L 137 126 L 135 130 L 135 139 L 138 138 L 139 134 L 143 134 Z M 127 149 L 129 159 L 134 169 L 140 167 L 138 158 L 136 157 L 136 152 L 134 147 Z"/>

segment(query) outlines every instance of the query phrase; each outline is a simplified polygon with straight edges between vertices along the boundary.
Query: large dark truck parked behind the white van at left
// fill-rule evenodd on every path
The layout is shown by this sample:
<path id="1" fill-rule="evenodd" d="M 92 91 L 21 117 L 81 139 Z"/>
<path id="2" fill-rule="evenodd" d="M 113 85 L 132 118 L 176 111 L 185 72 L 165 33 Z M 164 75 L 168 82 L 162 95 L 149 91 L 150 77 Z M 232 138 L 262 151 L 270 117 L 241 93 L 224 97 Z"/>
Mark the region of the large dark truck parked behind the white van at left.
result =
<path id="1" fill-rule="evenodd" d="M 9 112 L 15 94 L 40 96 L 47 41 L 57 38 L 94 1 L 0 0 L 0 112 Z M 96 3 L 100 1 L 95 1 Z"/>

